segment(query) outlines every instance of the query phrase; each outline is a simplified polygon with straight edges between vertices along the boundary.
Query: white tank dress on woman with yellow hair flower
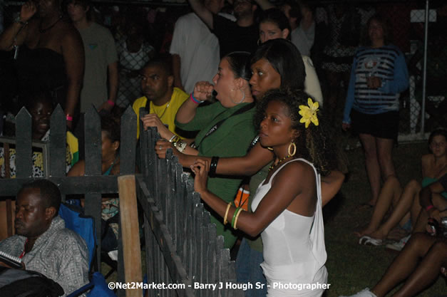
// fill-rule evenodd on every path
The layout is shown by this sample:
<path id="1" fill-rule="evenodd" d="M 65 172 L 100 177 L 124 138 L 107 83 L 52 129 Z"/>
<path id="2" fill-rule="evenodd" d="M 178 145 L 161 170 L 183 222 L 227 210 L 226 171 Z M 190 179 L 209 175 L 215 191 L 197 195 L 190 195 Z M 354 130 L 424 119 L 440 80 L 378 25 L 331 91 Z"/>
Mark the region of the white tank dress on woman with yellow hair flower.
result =
<path id="1" fill-rule="evenodd" d="M 315 167 L 307 160 L 294 159 L 289 162 L 299 161 L 306 162 L 314 169 L 317 207 L 312 217 L 285 209 L 262 231 L 264 262 L 261 267 L 267 278 L 267 297 L 322 296 L 323 285 L 327 283 L 321 180 Z M 279 167 L 267 184 L 260 184 L 252 202 L 253 212 L 269 192 L 274 176 L 289 162 Z"/>

